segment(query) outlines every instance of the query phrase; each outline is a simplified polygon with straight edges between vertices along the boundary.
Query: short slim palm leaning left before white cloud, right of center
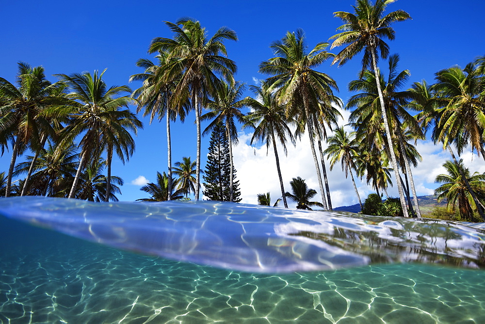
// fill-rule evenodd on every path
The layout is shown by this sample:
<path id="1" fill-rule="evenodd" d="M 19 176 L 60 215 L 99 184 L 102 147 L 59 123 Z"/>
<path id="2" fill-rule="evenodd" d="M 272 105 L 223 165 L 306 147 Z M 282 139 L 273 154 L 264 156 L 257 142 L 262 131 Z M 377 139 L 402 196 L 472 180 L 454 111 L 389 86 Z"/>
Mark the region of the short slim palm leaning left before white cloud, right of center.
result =
<path id="1" fill-rule="evenodd" d="M 356 160 L 358 157 L 358 143 L 356 141 L 356 132 L 347 133 L 340 127 L 335 130 L 335 134 L 328 138 L 328 147 L 323 151 L 327 155 L 327 159 L 330 159 L 330 171 L 335 163 L 339 162 L 342 165 L 342 171 L 345 172 L 345 178 L 350 171 L 350 178 L 354 184 L 357 198 L 359 200 L 360 209 L 362 209 L 362 201 L 360 201 L 359 192 L 357 190 L 356 181 L 352 174 L 352 169 L 357 170 Z"/>

